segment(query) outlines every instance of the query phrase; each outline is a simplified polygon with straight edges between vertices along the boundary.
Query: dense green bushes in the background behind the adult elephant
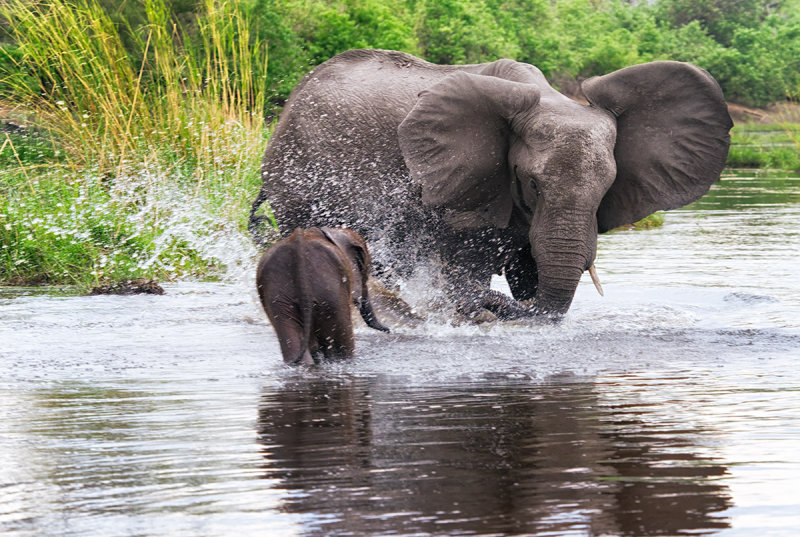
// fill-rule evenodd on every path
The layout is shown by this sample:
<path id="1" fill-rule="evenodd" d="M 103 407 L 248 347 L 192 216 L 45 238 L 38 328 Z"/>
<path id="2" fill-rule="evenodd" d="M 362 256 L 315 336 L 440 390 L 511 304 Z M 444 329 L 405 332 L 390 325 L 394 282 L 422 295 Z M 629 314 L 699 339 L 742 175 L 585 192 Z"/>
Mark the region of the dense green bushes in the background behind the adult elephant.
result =
<path id="1" fill-rule="evenodd" d="M 270 88 L 350 48 L 398 49 L 435 63 L 511 57 L 565 91 L 577 81 L 652 60 L 691 61 L 733 102 L 797 96 L 797 0 L 255 0 L 270 46 Z"/>

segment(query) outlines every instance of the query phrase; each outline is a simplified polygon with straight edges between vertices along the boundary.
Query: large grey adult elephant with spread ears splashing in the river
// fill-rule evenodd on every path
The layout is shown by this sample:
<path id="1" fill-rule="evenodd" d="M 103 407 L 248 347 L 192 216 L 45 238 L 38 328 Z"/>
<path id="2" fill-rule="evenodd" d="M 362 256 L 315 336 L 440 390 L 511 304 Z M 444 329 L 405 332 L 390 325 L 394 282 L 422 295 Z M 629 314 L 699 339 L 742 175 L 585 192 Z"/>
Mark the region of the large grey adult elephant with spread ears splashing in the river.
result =
<path id="1" fill-rule="evenodd" d="M 384 276 L 440 260 L 462 313 L 564 314 L 597 234 L 706 193 L 732 126 L 719 85 L 688 63 L 627 67 L 582 90 L 589 105 L 507 59 L 339 54 L 283 110 L 251 232 L 269 200 L 283 235 L 346 226 L 381 243 Z M 501 272 L 515 300 L 490 290 Z"/>

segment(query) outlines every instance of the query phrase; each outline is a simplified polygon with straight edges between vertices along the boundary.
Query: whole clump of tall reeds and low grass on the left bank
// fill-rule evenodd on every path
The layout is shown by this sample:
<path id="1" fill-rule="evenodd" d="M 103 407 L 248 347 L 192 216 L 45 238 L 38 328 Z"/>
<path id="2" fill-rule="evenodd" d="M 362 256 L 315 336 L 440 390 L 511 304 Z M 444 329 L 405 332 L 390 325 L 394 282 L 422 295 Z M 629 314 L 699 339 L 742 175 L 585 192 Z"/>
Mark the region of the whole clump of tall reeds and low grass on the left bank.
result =
<path id="1" fill-rule="evenodd" d="M 0 5 L 21 53 L 0 107 L 33 124 L 0 135 L 0 283 L 209 277 L 252 249 L 266 47 L 236 2 L 205 0 L 194 40 L 143 7 L 129 54 L 95 0 Z"/>

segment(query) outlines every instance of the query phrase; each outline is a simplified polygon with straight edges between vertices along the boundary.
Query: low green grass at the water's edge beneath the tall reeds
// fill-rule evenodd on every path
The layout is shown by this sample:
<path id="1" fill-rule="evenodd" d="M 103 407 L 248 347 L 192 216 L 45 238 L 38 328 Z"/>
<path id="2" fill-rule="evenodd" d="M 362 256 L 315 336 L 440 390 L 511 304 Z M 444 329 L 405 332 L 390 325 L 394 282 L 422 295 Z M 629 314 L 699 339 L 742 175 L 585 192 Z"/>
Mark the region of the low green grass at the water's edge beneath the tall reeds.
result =
<path id="1" fill-rule="evenodd" d="M 225 177 L 209 181 L 219 185 L 215 191 L 197 195 L 180 177 L 150 173 L 140 175 L 139 184 L 127 181 L 133 186 L 128 192 L 101 177 L 57 168 L 6 175 L 10 194 L 0 198 L 3 283 L 87 289 L 137 277 L 208 278 L 253 255 L 242 229 L 257 184 L 237 186 Z"/>

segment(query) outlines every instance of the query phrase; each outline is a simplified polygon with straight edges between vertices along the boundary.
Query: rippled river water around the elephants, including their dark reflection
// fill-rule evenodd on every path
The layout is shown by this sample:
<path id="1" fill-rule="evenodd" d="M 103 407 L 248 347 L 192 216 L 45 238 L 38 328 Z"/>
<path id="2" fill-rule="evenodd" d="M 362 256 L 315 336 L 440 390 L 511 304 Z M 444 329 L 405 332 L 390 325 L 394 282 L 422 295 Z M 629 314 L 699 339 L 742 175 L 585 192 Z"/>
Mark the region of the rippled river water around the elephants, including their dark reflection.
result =
<path id="1" fill-rule="evenodd" d="M 250 277 L 2 290 L 0 533 L 798 535 L 798 254 L 800 179 L 729 175 L 601 237 L 560 324 L 360 326 L 310 369 Z"/>

